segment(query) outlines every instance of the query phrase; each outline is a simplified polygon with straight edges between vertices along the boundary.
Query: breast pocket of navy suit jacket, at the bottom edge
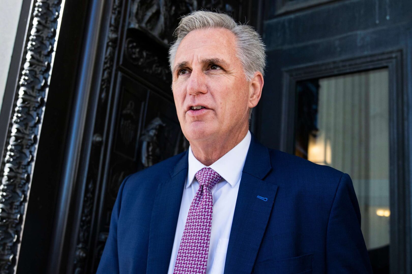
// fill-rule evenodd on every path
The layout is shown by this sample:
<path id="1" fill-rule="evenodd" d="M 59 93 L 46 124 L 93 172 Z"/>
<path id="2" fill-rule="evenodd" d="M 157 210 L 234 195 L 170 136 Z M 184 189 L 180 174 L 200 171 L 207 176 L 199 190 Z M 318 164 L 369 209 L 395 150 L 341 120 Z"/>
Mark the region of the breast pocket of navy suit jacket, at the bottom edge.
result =
<path id="1" fill-rule="evenodd" d="M 313 254 L 283 260 L 265 260 L 257 262 L 254 274 L 309 274 L 312 273 Z"/>

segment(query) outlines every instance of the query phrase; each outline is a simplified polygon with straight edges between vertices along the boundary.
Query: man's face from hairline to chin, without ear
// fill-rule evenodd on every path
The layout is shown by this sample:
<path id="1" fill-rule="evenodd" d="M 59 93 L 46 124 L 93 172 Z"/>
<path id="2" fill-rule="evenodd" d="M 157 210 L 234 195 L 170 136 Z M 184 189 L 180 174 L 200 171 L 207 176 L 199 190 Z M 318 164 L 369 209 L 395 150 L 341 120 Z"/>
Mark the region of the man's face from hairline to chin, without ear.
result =
<path id="1" fill-rule="evenodd" d="M 236 56 L 236 37 L 227 29 L 186 35 L 173 64 L 172 90 L 180 126 L 190 142 L 224 141 L 248 126 L 253 107 L 249 84 Z"/>

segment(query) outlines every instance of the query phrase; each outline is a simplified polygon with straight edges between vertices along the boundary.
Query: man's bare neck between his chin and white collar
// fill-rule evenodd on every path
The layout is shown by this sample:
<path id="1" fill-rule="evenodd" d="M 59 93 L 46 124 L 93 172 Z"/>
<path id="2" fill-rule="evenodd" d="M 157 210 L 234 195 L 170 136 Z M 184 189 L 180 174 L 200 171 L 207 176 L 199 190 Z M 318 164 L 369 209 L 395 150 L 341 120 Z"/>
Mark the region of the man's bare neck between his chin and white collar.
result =
<path id="1" fill-rule="evenodd" d="M 212 163 L 220 159 L 223 155 L 229 152 L 237 144 L 245 138 L 248 133 L 248 127 L 229 136 L 219 136 L 218 140 L 208 140 L 208 142 L 190 142 L 194 157 L 203 163 L 205 166 L 210 166 Z"/>

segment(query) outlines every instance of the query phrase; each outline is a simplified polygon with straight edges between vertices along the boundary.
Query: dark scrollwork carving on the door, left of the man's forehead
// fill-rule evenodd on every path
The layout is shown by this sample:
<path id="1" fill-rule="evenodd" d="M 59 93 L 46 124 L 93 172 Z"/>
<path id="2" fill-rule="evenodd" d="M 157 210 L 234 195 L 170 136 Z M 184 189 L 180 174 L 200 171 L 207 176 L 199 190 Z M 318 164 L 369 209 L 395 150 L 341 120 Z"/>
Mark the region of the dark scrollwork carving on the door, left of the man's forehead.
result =
<path id="1" fill-rule="evenodd" d="M 169 80 L 171 71 L 168 64 L 162 62 L 156 53 L 139 46 L 132 38 L 126 41 L 126 56 L 132 64 L 143 68 L 143 72 L 155 75 L 164 81 Z"/>

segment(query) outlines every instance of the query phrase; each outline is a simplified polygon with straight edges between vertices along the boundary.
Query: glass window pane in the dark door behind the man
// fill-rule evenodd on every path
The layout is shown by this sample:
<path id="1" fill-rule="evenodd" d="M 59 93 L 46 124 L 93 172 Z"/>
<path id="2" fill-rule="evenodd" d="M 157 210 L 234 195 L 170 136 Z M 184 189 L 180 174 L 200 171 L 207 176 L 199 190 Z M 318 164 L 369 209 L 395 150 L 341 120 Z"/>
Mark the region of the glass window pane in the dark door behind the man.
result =
<path id="1" fill-rule="evenodd" d="M 388 81 L 379 69 L 297 85 L 295 154 L 351 176 L 375 273 L 389 273 Z"/>

